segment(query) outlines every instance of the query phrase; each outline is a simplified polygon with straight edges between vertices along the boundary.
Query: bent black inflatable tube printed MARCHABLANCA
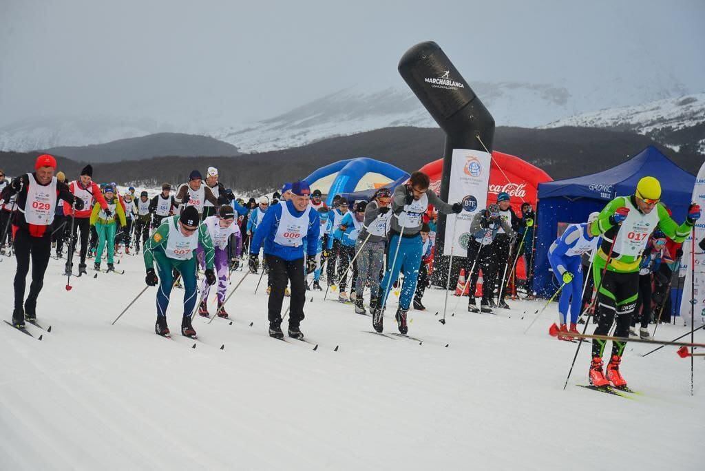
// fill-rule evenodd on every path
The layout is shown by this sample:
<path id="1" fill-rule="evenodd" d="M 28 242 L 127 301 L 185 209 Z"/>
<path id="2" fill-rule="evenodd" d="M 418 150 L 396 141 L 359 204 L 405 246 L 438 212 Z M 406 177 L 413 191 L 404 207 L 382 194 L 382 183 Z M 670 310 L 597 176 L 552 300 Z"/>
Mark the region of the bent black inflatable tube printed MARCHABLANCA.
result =
<path id="1" fill-rule="evenodd" d="M 441 199 L 448 200 L 450 185 L 450 159 L 453 149 L 474 149 L 484 151 L 482 142 L 492 151 L 494 140 L 494 118 L 485 108 L 458 69 L 438 44 L 432 41 L 421 42 L 405 52 L 399 61 L 398 71 L 417 98 L 424 104 L 429 114 L 446 133 L 443 150 L 443 176 L 441 177 Z M 479 137 L 479 139 L 478 139 Z M 453 202 L 451 202 L 453 203 Z M 456 237 L 469 228 L 458 227 Z M 450 229 L 452 231 L 452 228 Z M 446 233 L 446 216 L 439 215 L 436 237 L 436 254 L 443 253 Z M 448 276 L 448 260 L 440 263 L 436 255 L 434 264 L 434 284 L 444 285 Z M 455 267 L 465 265 L 465 253 L 453 253 L 458 257 Z M 448 258 L 448 257 L 446 257 Z M 457 280 L 459 269 L 452 271 Z M 451 280 L 451 286 L 455 282 Z"/>

